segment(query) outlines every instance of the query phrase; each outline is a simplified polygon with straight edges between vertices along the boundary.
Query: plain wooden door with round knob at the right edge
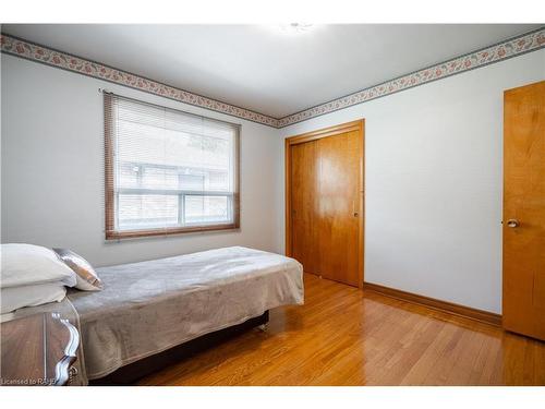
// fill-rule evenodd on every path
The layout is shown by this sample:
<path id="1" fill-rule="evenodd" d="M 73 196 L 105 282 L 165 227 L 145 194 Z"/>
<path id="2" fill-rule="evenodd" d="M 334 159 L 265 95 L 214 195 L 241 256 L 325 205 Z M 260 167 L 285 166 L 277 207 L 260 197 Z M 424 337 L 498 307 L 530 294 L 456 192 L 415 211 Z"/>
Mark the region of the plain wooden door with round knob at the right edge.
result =
<path id="1" fill-rule="evenodd" d="M 545 81 L 504 95 L 502 323 L 545 339 Z"/>

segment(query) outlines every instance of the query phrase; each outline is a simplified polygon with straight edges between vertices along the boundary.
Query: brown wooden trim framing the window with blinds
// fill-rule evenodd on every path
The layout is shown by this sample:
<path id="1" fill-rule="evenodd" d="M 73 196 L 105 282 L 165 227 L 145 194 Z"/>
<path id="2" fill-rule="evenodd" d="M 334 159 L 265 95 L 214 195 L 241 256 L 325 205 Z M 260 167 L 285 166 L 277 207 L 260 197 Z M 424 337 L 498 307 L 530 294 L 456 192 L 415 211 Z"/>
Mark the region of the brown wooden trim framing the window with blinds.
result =
<path id="1" fill-rule="evenodd" d="M 140 99 L 129 98 L 120 96 L 113 93 L 102 91 L 104 94 L 104 115 L 105 115 L 105 236 L 106 240 L 120 240 L 120 239 L 136 239 L 145 237 L 158 237 L 158 236 L 172 236 L 182 234 L 191 232 L 205 232 L 205 231 L 222 231 L 222 230 L 239 230 L 240 229 L 240 133 L 241 125 L 238 123 L 220 121 L 214 118 L 196 116 L 191 112 L 185 112 L 180 109 L 173 109 L 156 104 L 146 103 Z M 229 123 L 234 125 L 234 153 L 233 153 L 233 164 L 234 164 L 234 189 L 232 192 L 232 212 L 233 221 L 228 224 L 211 224 L 211 225 L 196 225 L 196 226 L 177 226 L 177 227 L 165 227 L 165 228 L 150 228 L 150 229 L 137 229 L 137 230 L 116 230 L 116 191 L 114 191 L 114 159 L 113 159 L 113 133 L 111 125 L 113 123 L 113 109 L 112 109 L 112 97 L 130 99 L 138 104 L 148 105 L 152 107 L 157 107 L 161 109 L 168 109 L 174 112 L 182 112 L 184 115 L 203 117 L 207 120 L 218 121 L 222 123 Z M 199 192 L 206 193 L 206 192 Z"/>

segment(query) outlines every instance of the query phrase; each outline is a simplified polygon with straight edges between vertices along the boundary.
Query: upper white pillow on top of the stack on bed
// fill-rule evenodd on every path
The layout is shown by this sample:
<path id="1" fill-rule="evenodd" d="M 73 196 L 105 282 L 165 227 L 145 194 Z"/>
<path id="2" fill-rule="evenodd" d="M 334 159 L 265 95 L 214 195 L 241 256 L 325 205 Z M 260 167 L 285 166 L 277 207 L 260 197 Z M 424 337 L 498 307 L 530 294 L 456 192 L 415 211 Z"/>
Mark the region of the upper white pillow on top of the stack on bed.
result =
<path id="1" fill-rule="evenodd" d="M 75 274 L 49 249 L 33 244 L 1 245 L 0 288 L 43 282 L 75 286 Z"/>

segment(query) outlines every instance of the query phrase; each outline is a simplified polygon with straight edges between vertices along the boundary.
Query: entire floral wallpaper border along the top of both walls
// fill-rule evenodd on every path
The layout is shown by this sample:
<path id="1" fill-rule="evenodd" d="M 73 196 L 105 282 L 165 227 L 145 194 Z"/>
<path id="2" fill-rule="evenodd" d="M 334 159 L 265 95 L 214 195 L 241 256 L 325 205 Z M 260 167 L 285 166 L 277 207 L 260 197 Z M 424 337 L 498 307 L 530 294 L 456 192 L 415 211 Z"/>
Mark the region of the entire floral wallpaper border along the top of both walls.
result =
<path id="1" fill-rule="evenodd" d="M 81 57 L 26 41 L 22 38 L 16 38 L 8 34 L 0 35 L 0 43 L 1 51 L 9 55 L 41 62 L 47 65 L 57 67 L 119 85 L 129 86 L 178 100 L 180 103 L 190 104 L 272 128 L 283 128 L 314 117 L 423 85 L 432 81 L 437 81 L 519 55 L 538 50 L 545 47 L 545 27 L 541 27 L 534 32 L 523 34 L 494 46 L 457 57 L 449 61 L 419 70 L 283 118 L 272 118 L 250 109 L 240 108 L 227 103 L 207 98 L 98 62 L 89 61 Z"/>

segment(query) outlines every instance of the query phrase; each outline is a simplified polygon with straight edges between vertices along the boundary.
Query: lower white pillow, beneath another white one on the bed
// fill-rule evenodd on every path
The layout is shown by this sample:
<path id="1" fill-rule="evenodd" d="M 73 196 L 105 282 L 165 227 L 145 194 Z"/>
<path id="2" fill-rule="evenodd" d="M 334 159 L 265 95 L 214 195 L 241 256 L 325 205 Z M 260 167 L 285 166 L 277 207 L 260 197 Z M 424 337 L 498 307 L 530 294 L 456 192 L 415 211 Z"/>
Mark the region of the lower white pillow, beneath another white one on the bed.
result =
<path id="1" fill-rule="evenodd" d="M 46 282 L 35 286 L 10 287 L 0 289 L 0 313 L 5 314 L 23 306 L 47 304 L 62 301 L 66 288 L 60 282 Z"/>

